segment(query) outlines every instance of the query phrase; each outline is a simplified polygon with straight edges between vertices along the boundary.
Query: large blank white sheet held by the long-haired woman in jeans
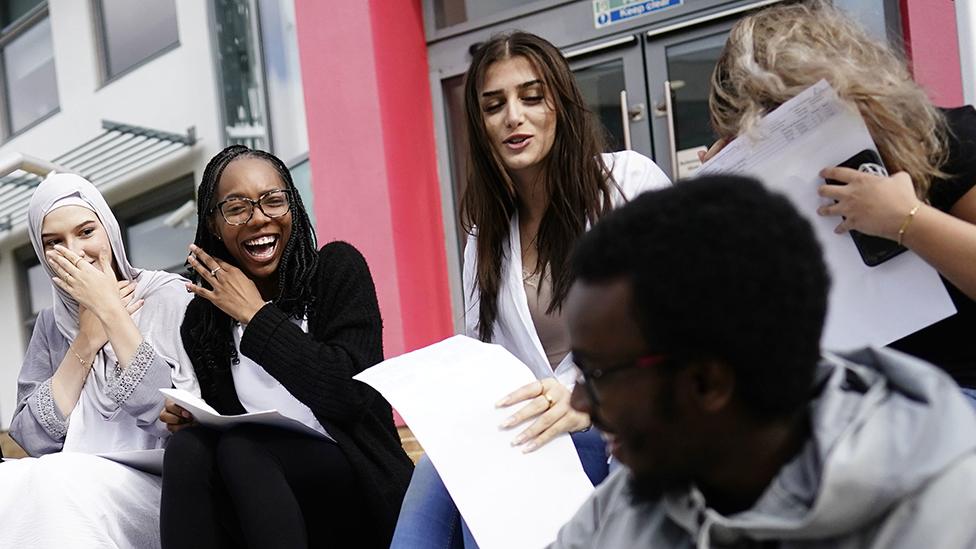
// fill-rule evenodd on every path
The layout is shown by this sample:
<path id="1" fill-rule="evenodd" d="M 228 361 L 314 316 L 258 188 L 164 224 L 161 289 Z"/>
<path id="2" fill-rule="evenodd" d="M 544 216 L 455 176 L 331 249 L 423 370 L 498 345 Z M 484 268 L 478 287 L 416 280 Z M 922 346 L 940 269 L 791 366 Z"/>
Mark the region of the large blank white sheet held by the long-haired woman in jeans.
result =
<path id="1" fill-rule="evenodd" d="M 523 454 L 526 425 L 499 429 L 521 404 L 495 403 L 535 376 L 498 345 L 454 336 L 355 379 L 400 412 L 482 549 L 545 546 L 593 491 L 568 435 Z"/>

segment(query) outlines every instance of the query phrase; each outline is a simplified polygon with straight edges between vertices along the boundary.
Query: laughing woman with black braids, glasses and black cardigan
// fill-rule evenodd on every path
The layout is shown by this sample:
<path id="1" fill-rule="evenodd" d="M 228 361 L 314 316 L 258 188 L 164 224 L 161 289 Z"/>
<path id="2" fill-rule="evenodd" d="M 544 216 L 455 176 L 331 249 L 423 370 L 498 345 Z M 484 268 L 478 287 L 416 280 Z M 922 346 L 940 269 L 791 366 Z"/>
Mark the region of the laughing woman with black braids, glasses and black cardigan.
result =
<path id="1" fill-rule="evenodd" d="M 352 379 L 383 359 L 366 261 L 316 251 L 288 169 L 228 147 L 200 183 L 181 334 L 203 398 L 222 414 L 277 409 L 322 437 L 194 425 L 172 402 L 164 547 L 382 547 L 412 469 L 389 404 Z"/>

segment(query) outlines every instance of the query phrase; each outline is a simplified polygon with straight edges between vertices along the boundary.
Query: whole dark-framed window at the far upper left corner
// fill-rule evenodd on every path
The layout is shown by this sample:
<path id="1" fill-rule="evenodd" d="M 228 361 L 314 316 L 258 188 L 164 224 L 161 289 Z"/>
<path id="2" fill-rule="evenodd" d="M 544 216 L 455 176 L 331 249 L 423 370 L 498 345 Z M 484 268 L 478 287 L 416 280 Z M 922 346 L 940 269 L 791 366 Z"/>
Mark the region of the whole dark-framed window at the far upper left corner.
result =
<path id="1" fill-rule="evenodd" d="M 0 24 L 6 138 L 57 112 L 59 101 L 47 3 L 0 2 Z"/>

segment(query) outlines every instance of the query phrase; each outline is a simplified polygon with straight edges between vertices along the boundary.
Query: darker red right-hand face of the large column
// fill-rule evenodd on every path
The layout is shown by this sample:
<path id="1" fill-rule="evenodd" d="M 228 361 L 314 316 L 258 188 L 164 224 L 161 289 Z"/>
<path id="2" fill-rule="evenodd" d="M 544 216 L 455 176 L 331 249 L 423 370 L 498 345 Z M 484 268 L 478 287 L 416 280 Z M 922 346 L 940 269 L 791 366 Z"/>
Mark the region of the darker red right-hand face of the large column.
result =
<path id="1" fill-rule="evenodd" d="M 370 0 L 405 350 L 454 332 L 421 0 Z"/>

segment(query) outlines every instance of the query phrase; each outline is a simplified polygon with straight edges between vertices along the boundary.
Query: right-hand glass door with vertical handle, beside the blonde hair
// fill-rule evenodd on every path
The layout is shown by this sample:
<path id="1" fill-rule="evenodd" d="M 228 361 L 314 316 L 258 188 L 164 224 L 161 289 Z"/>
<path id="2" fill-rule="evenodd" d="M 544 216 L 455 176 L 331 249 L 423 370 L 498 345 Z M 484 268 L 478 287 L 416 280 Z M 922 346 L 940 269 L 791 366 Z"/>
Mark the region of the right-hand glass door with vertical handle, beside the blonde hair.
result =
<path id="1" fill-rule="evenodd" d="M 647 85 L 653 105 L 654 159 L 672 180 L 694 175 L 698 151 L 716 137 L 708 115 L 712 70 L 733 22 L 648 37 Z"/>

